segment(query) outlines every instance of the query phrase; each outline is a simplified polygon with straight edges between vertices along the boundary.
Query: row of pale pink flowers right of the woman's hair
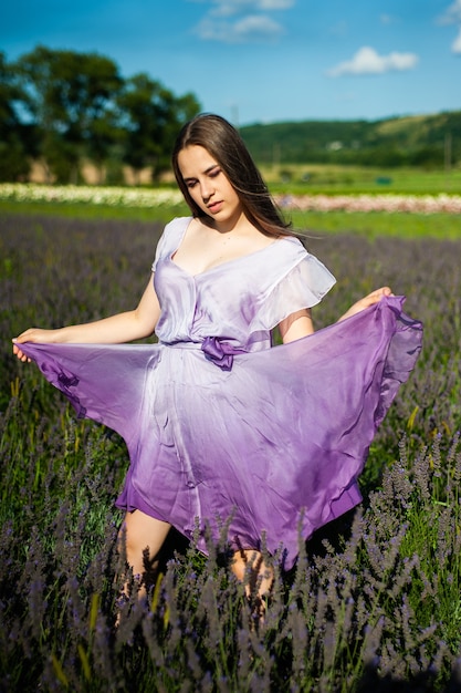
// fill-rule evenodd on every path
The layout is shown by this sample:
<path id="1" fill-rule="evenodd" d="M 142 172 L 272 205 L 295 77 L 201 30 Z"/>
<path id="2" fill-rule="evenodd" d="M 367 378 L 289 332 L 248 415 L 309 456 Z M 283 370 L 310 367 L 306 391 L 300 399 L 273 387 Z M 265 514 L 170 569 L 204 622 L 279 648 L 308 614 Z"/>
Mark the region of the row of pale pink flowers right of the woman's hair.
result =
<path id="1" fill-rule="evenodd" d="M 461 214 L 461 195 L 279 195 L 275 200 L 301 211 Z"/>

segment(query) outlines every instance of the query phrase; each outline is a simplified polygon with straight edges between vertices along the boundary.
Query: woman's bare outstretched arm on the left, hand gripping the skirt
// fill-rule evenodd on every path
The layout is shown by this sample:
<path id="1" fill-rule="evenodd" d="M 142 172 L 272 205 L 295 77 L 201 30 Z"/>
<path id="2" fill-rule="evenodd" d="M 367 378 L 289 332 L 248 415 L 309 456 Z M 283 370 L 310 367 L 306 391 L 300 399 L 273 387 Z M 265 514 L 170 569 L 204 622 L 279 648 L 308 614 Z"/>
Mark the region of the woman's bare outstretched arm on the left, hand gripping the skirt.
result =
<path id="1" fill-rule="evenodd" d="M 158 322 L 160 306 L 154 289 L 153 277 L 135 310 L 87 322 L 73 324 L 57 330 L 30 328 L 13 340 L 13 353 L 21 361 L 29 359 L 19 344 L 36 343 L 73 343 L 73 344 L 121 344 L 149 337 Z"/>

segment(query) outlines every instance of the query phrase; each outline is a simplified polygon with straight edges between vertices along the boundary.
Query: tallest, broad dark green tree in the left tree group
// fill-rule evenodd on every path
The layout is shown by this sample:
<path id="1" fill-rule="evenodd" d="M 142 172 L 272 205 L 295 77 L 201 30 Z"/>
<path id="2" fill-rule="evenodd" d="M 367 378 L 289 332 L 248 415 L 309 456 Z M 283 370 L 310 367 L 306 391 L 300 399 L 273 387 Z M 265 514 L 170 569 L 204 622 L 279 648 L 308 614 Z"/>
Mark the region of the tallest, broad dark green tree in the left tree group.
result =
<path id="1" fill-rule="evenodd" d="M 78 179 L 87 154 L 101 166 L 116 141 L 117 65 L 97 53 L 35 48 L 19 59 L 31 114 L 41 132 L 40 155 L 59 180 Z"/>

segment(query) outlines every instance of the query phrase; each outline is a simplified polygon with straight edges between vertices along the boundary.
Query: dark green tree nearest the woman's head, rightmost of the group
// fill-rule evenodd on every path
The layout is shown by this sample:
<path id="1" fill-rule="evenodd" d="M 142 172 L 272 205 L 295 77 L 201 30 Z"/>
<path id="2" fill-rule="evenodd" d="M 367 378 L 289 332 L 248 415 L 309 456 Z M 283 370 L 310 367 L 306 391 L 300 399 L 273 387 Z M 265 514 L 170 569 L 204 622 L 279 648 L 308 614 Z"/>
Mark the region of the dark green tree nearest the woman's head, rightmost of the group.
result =
<path id="1" fill-rule="evenodd" d="M 199 103 L 192 94 L 176 97 L 145 73 L 125 82 L 117 103 L 125 131 L 123 161 L 137 175 L 150 166 L 153 177 L 157 178 L 169 167 L 179 127 L 199 112 Z"/>

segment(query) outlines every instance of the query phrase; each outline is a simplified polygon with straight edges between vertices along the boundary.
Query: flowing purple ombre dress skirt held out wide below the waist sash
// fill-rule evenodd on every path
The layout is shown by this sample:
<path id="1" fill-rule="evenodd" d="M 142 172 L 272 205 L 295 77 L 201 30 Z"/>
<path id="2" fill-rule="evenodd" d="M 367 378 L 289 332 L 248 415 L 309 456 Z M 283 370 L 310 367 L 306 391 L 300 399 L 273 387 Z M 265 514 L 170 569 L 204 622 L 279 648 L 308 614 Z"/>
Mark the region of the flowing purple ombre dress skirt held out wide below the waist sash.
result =
<path id="1" fill-rule="evenodd" d="M 229 520 L 232 548 L 307 539 L 360 501 L 376 430 L 421 348 L 401 297 L 289 344 L 235 354 L 200 344 L 23 344 L 80 416 L 117 431 L 130 466 L 117 505 L 187 537 Z M 230 518 L 230 519 L 229 519 Z M 203 534 L 198 548 L 207 551 Z"/>

